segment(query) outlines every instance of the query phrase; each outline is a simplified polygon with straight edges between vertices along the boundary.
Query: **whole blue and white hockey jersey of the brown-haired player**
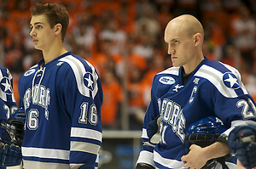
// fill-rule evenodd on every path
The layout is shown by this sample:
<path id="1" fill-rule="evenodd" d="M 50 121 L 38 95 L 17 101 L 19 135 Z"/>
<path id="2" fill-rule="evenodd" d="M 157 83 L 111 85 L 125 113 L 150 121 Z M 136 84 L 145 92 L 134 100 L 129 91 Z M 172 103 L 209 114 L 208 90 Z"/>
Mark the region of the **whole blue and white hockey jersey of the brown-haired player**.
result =
<path id="1" fill-rule="evenodd" d="M 24 168 L 97 167 L 102 144 L 102 84 L 95 68 L 70 52 L 20 76 L 26 111 Z"/>

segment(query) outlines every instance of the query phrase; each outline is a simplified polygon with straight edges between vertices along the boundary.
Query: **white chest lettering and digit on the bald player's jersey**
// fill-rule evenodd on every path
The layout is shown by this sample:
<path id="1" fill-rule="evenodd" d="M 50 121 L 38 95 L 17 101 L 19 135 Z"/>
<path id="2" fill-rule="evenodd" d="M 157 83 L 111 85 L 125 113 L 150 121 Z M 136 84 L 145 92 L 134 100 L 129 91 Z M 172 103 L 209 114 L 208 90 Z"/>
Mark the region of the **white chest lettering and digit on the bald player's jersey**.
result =
<path id="1" fill-rule="evenodd" d="M 159 108 L 160 108 L 160 115 L 162 121 L 166 122 L 168 125 L 164 126 L 161 123 L 160 126 L 160 134 L 161 134 L 161 142 L 165 144 L 165 133 L 167 127 L 170 125 L 172 127 L 172 132 L 176 133 L 177 137 L 181 139 L 183 142 L 185 139 L 185 123 L 186 119 L 183 115 L 183 110 L 181 106 L 172 100 L 164 99 L 161 101 L 158 100 Z"/>

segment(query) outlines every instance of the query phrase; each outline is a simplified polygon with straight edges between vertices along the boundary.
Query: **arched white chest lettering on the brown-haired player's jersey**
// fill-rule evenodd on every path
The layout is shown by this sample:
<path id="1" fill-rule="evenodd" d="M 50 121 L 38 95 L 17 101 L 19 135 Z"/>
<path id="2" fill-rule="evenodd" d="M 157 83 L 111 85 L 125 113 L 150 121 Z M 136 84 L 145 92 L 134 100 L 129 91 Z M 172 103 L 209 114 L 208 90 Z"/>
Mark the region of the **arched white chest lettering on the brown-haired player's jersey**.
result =
<path id="1" fill-rule="evenodd" d="M 47 110 L 50 102 L 49 88 L 46 88 L 43 85 L 40 85 L 40 87 L 36 85 L 35 87 L 32 87 L 32 90 L 28 88 L 23 99 L 25 110 L 30 106 L 31 100 L 32 104 L 38 104 Z"/>

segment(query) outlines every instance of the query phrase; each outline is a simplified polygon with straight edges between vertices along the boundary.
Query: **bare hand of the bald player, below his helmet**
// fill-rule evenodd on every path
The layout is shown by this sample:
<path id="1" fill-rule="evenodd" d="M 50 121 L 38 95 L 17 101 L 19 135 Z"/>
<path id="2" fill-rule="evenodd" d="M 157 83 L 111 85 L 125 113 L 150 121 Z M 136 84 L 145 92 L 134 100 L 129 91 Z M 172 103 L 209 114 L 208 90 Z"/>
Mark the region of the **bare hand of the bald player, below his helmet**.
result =
<path id="1" fill-rule="evenodd" d="M 205 166 L 208 159 L 205 158 L 204 149 L 196 144 L 192 144 L 189 149 L 189 154 L 183 155 L 181 158 L 184 162 L 183 167 L 200 169 L 202 166 Z"/>

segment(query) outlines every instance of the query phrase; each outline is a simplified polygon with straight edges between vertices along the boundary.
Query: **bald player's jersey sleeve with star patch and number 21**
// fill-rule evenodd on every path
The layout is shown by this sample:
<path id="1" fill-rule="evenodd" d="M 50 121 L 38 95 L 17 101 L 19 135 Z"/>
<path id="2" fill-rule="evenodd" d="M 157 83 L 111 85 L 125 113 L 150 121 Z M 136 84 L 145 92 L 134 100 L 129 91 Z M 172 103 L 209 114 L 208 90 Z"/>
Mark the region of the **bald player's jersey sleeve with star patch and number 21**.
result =
<path id="1" fill-rule="evenodd" d="M 245 121 L 256 121 L 256 106 L 252 96 L 247 93 L 238 70 L 225 66 L 229 71 L 220 76 L 221 87 L 216 85 L 218 90 L 212 92 L 212 99 L 216 115 L 230 127 L 224 132 L 228 135 L 234 126 Z"/>

